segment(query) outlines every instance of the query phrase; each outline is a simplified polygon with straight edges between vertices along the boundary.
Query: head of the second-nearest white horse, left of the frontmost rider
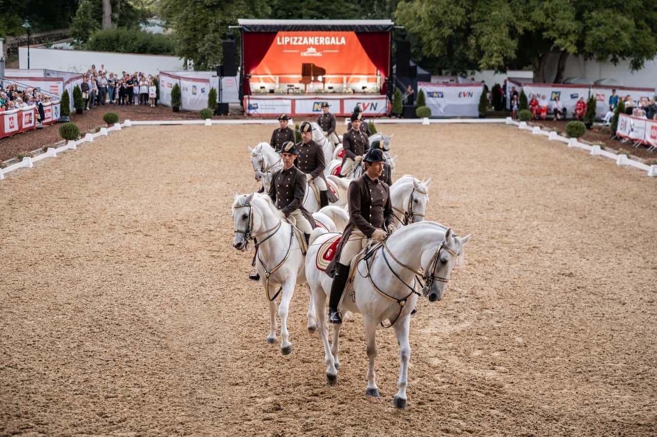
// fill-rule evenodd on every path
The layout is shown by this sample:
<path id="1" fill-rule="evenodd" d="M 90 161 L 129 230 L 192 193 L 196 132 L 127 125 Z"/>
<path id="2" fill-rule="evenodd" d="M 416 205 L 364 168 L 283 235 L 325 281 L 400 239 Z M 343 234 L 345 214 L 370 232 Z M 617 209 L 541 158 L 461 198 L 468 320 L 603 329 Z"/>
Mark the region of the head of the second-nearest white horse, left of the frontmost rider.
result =
<path id="1" fill-rule="evenodd" d="M 233 223 L 235 238 L 233 247 L 245 251 L 247 243 L 265 226 L 264 216 L 278 217 L 276 207 L 269 196 L 263 194 L 233 194 Z"/>

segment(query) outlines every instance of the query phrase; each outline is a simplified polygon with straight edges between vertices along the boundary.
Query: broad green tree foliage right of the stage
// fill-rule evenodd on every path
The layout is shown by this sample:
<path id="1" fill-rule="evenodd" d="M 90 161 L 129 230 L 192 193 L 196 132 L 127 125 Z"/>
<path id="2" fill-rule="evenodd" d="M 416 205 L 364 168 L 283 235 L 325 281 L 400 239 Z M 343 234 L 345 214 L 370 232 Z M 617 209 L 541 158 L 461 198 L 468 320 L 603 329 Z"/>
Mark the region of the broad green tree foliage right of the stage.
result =
<path id="1" fill-rule="evenodd" d="M 423 65 L 451 70 L 531 65 L 535 81 L 552 81 L 545 77 L 552 51 L 560 52 L 561 72 L 568 54 L 627 58 L 637 69 L 657 53 L 657 4 L 641 0 L 411 0 L 394 16 Z"/>

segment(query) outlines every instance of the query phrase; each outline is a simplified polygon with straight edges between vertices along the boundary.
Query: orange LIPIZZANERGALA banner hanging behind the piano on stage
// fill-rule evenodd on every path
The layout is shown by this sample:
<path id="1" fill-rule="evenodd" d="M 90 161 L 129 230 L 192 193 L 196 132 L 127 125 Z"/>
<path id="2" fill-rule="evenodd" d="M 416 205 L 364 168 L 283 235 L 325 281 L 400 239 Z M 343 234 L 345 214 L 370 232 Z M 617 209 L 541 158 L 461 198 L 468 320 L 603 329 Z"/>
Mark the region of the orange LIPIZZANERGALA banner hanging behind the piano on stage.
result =
<path id="1" fill-rule="evenodd" d="M 375 75 L 376 66 L 352 31 L 278 32 L 252 75 L 302 75 L 302 64 L 315 64 L 325 75 Z M 315 78 L 317 79 L 317 78 Z M 327 83 L 342 83 L 327 77 Z"/>

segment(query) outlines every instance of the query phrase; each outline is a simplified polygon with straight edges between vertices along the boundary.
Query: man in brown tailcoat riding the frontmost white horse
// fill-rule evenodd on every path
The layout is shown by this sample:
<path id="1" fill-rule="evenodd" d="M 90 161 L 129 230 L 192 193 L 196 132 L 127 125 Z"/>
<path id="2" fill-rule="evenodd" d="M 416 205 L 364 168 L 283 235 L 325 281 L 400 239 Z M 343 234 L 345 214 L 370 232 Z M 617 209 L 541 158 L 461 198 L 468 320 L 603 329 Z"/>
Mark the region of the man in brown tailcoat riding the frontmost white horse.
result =
<path id="1" fill-rule="evenodd" d="M 395 231 L 390 187 L 378 179 L 385 161 L 382 150 L 369 150 L 363 161 L 365 174 L 349 184 L 349 223 L 342 232 L 338 251 L 326 270 L 329 275 L 334 273 L 328 301 L 330 323 L 342 323 L 338 304 L 349 276 L 351 259 L 370 239 L 383 241 L 386 232 L 392 234 Z"/>

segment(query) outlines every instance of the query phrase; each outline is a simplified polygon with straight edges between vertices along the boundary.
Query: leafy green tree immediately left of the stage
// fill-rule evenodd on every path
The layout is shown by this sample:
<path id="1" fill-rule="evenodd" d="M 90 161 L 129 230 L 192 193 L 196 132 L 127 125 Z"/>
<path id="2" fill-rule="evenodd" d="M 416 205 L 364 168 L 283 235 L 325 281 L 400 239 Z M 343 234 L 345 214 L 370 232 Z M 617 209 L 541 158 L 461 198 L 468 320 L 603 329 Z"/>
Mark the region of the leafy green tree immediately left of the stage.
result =
<path id="1" fill-rule="evenodd" d="M 196 70 L 221 64 L 221 37 L 238 18 L 267 18 L 271 13 L 265 0 L 160 0 L 158 10 L 173 28 L 176 54 L 193 60 Z"/>

